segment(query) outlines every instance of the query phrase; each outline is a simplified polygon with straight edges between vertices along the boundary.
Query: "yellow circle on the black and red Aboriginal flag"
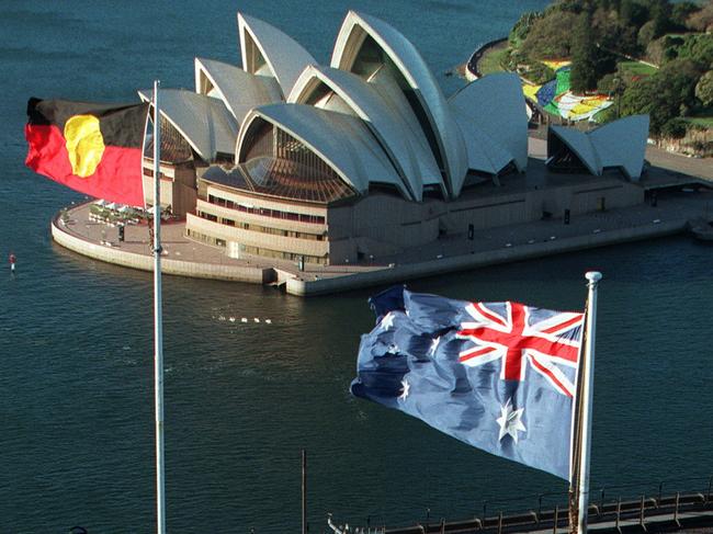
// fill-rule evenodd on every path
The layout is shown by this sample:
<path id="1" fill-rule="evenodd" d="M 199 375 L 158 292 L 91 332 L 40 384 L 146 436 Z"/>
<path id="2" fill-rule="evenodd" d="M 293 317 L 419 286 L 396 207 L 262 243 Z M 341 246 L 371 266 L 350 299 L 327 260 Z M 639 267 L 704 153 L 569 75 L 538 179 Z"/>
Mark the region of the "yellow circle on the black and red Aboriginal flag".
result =
<path id="1" fill-rule="evenodd" d="M 65 124 L 65 141 L 72 172 L 91 177 L 104 154 L 104 138 L 94 115 L 75 115 Z"/>

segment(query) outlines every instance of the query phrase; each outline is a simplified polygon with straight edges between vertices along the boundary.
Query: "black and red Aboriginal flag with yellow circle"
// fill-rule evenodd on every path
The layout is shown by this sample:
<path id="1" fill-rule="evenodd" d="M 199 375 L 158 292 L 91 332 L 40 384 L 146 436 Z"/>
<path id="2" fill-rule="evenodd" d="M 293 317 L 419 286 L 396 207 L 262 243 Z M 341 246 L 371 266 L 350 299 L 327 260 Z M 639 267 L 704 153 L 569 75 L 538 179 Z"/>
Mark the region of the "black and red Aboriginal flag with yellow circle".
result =
<path id="1" fill-rule="evenodd" d="M 144 206 L 148 106 L 30 99 L 25 164 L 90 196 Z"/>

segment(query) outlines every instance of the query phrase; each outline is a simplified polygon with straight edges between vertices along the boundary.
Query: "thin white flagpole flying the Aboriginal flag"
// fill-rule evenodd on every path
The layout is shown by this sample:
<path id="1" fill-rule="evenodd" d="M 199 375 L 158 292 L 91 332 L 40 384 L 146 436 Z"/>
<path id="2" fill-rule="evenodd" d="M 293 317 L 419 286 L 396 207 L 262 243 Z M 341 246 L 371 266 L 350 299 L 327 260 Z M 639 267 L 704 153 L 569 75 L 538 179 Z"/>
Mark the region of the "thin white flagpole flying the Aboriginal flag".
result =
<path id="1" fill-rule="evenodd" d="M 154 397 L 156 401 L 156 516 L 158 534 L 166 534 L 163 469 L 163 320 L 161 317 L 161 128 L 158 87 L 154 81 Z"/>

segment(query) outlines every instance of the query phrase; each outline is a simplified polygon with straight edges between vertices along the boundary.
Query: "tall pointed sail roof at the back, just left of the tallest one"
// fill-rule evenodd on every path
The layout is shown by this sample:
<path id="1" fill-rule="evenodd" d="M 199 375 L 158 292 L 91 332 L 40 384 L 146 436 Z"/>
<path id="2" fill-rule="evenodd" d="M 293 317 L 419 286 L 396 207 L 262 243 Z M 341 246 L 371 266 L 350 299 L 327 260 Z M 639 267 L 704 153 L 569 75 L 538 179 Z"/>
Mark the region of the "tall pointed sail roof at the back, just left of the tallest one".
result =
<path id="1" fill-rule="evenodd" d="M 273 76 L 284 96 L 290 94 L 305 67 L 317 63 L 295 39 L 253 16 L 238 13 L 238 32 L 242 68 L 252 75 Z M 256 56 L 264 59 L 267 72 L 261 69 L 260 61 L 256 63 Z"/>

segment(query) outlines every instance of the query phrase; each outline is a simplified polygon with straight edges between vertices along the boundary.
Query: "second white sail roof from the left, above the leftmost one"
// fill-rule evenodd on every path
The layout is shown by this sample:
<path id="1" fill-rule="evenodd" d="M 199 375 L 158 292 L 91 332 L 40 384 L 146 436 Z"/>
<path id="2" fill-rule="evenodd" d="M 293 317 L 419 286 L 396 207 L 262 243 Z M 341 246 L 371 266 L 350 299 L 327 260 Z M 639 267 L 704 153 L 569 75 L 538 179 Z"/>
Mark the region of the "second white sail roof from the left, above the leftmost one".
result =
<path id="1" fill-rule="evenodd" d="M 235 65 L 197 57 L 195 92 L 220 99 L 238 123 L 250 109 L 282 100 L 274 78 L 250 75 Z"/>

